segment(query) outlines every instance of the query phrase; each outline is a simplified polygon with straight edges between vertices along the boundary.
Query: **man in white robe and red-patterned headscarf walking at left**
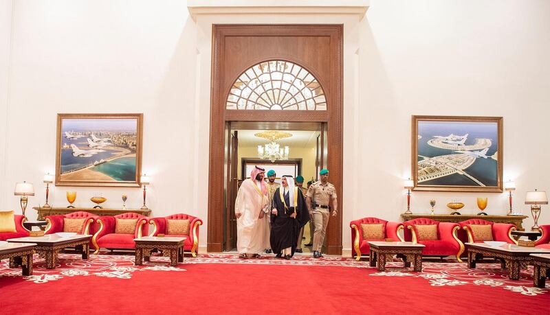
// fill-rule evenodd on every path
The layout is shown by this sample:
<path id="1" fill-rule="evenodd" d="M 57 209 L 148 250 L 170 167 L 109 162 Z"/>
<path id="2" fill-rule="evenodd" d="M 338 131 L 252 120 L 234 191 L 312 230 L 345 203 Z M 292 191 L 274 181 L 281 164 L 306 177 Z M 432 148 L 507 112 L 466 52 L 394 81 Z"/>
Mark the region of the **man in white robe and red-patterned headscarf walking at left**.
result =
<path id="1" fill-rule="evenodd" d="M 260 257 L 269 246 L 269 239 L 265 237 L 267 221 L 263 218 L 270 210 L 264 176 L 265 170 L 255 166 L 236 195 L 236 249 L 242 258 Z"/>

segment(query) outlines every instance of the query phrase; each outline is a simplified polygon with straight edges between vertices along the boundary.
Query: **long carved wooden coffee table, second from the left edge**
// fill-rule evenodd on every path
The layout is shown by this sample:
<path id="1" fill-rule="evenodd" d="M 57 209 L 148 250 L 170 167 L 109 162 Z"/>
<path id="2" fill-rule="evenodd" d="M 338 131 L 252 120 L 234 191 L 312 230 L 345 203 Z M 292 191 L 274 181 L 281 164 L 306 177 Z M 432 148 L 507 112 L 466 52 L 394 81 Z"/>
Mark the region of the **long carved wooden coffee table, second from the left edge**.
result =
<path id="1" fill-rule="evenodd" d="M 10 238 L 10 243 L 35 243 L 34 251 L 40 257 L 46 259 L 46 268 L 53 269 L 58 263 L 58 253 L 67 247 L 82 248 L 82 259 L 89 257 L 89 244 L 91 235 L 74 235 L 61 237 L 57 234 L 48 234 L 44 236 L 28 236 L 19 238 Z"/>

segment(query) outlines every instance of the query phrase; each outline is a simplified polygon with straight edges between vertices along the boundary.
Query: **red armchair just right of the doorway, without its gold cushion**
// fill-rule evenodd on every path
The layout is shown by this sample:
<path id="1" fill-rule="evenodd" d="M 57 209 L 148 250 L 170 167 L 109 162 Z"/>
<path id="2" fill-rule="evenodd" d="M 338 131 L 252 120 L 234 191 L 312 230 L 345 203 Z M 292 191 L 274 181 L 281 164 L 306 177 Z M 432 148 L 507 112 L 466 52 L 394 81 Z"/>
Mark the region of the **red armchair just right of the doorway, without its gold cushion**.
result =
<path id="1" fill-rule="evenodd" d="M 361 224 L 384 224 L 382 230 L 384 231 L 384 238 L 380 240 L 368 240 L 363 237 L 363 230 Z M 359 261 L 361 255 L 370 255 L 371 248 L 369 241 L 384 241 L 386 238 L 390 238 L 395 242 L 403 242 L 403 239 L 399 235 L 399 230 L 404 228 L 404 225 L 399 222 L 388 222 L 386 220 L 378 218 L 362 218 L 349 222 L 351 228 L 351 244 L 353 244 L 352 257 L 357 256 L 355 260 Z"/>

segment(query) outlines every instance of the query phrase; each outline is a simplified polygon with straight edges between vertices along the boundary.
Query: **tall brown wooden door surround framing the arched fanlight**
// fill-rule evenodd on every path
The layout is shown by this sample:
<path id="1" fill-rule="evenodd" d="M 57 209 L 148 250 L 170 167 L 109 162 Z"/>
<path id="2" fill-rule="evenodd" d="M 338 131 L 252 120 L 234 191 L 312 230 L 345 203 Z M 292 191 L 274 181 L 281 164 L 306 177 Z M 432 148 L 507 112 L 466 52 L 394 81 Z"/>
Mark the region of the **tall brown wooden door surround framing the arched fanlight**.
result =
<path id="1" fill-rule="evenodd" d="M 323 143 L 327 143 L 323 164 L 331 172 L 329 181 L 336 186 L 341 209 L 338 216 L 329 222 L 327 253 L 342 253 L 342 211 L 345 211 L 342 200 L 342 30 L 342 25 L 213 25 L 208 172 L 209 252 L 221 252 L 225 247 L 224 232 L 227 235 L 228 231 L 223 219 L 231 215 L 231 209 L 226 207 L 230 191 L 225 190 L 225 187 L 230 187 L 227 184 L 230 184 L 232 173 L 229 163 L 232 154 L 226 152 L 226 144 L 232 141 L 228 123 L 256 121 L 259 124 L 284 124 L 303 121 L 325 123 L 327 127 L 323 133 L 326 136 L 322 139 Z M 245 75 L 245 71 L 272 60 L 281 61 L 277 61 L 277 65 L 293 65 L 292 69 L 295 66 L 306 69 L 311 75 L 303 78 L 303 81 L 309 85 L 315 80 L 319 87 L 314 88 L 322 89 L 325 107 L 319 109 L 314 106 L 311 109 L 308 100 L 307 108 L 296 103 L 296 109 L 276 110 L 272 107 L 258 110 L 248 105 L 241 107 L 240 99 L 234 101 L 235 106 L 232 107 L 232 89 L 239 88 L 236 82 Z M 221 180 L 222 174 L 224 180 Z"/>

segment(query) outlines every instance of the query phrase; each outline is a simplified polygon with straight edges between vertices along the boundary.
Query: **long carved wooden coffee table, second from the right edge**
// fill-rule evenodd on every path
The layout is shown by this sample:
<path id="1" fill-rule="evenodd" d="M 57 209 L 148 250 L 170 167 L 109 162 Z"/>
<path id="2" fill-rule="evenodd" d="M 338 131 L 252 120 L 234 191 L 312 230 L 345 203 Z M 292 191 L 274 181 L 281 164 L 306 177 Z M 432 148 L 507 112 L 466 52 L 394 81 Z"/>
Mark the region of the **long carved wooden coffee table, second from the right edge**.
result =
<path id="1" fill-rule="evenodd" d="M 531 254 L 550 254 L 550 250 L 538 247 L 523 247 L 516 244 L 490 246 L 485 243 L 466 243 L 468 253 L 468 267 L 476 268 L 477 256 L 488 256 L 500 259 L 500 268 L 508 268 L 511 280 L 520 279 L 520 270 L 527 268 L 533 261 Z"/>

